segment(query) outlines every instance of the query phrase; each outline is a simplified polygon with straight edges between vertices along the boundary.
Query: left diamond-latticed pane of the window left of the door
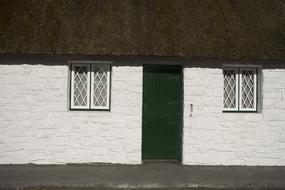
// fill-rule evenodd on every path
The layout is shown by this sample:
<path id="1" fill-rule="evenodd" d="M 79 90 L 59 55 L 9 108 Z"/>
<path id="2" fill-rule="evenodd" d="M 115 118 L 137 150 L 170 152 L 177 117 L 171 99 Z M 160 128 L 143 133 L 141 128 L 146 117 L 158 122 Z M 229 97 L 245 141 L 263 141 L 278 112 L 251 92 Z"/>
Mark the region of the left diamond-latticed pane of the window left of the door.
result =
<path id="1" fill-rule="evenodd" d="M 74 67 L 73 103 L 74 106 L 87 105 L 88 67 Z"/>

